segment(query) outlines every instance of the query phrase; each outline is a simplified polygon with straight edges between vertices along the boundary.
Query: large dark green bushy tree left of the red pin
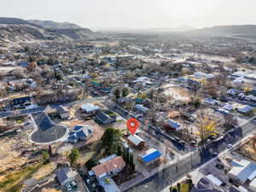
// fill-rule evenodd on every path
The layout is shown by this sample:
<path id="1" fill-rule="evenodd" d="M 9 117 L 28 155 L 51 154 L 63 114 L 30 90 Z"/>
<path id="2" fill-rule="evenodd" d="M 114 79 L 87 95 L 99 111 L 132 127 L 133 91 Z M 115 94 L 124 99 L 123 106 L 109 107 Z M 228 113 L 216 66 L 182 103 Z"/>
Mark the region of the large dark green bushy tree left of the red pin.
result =
<path id="1" fill-rule="evenodd" d="M 105 147 L 108 154 L 118 152 L 118 145 L 121 143 L 123 132 L 109 127 L 102 136 L 102 145 Z"/>

